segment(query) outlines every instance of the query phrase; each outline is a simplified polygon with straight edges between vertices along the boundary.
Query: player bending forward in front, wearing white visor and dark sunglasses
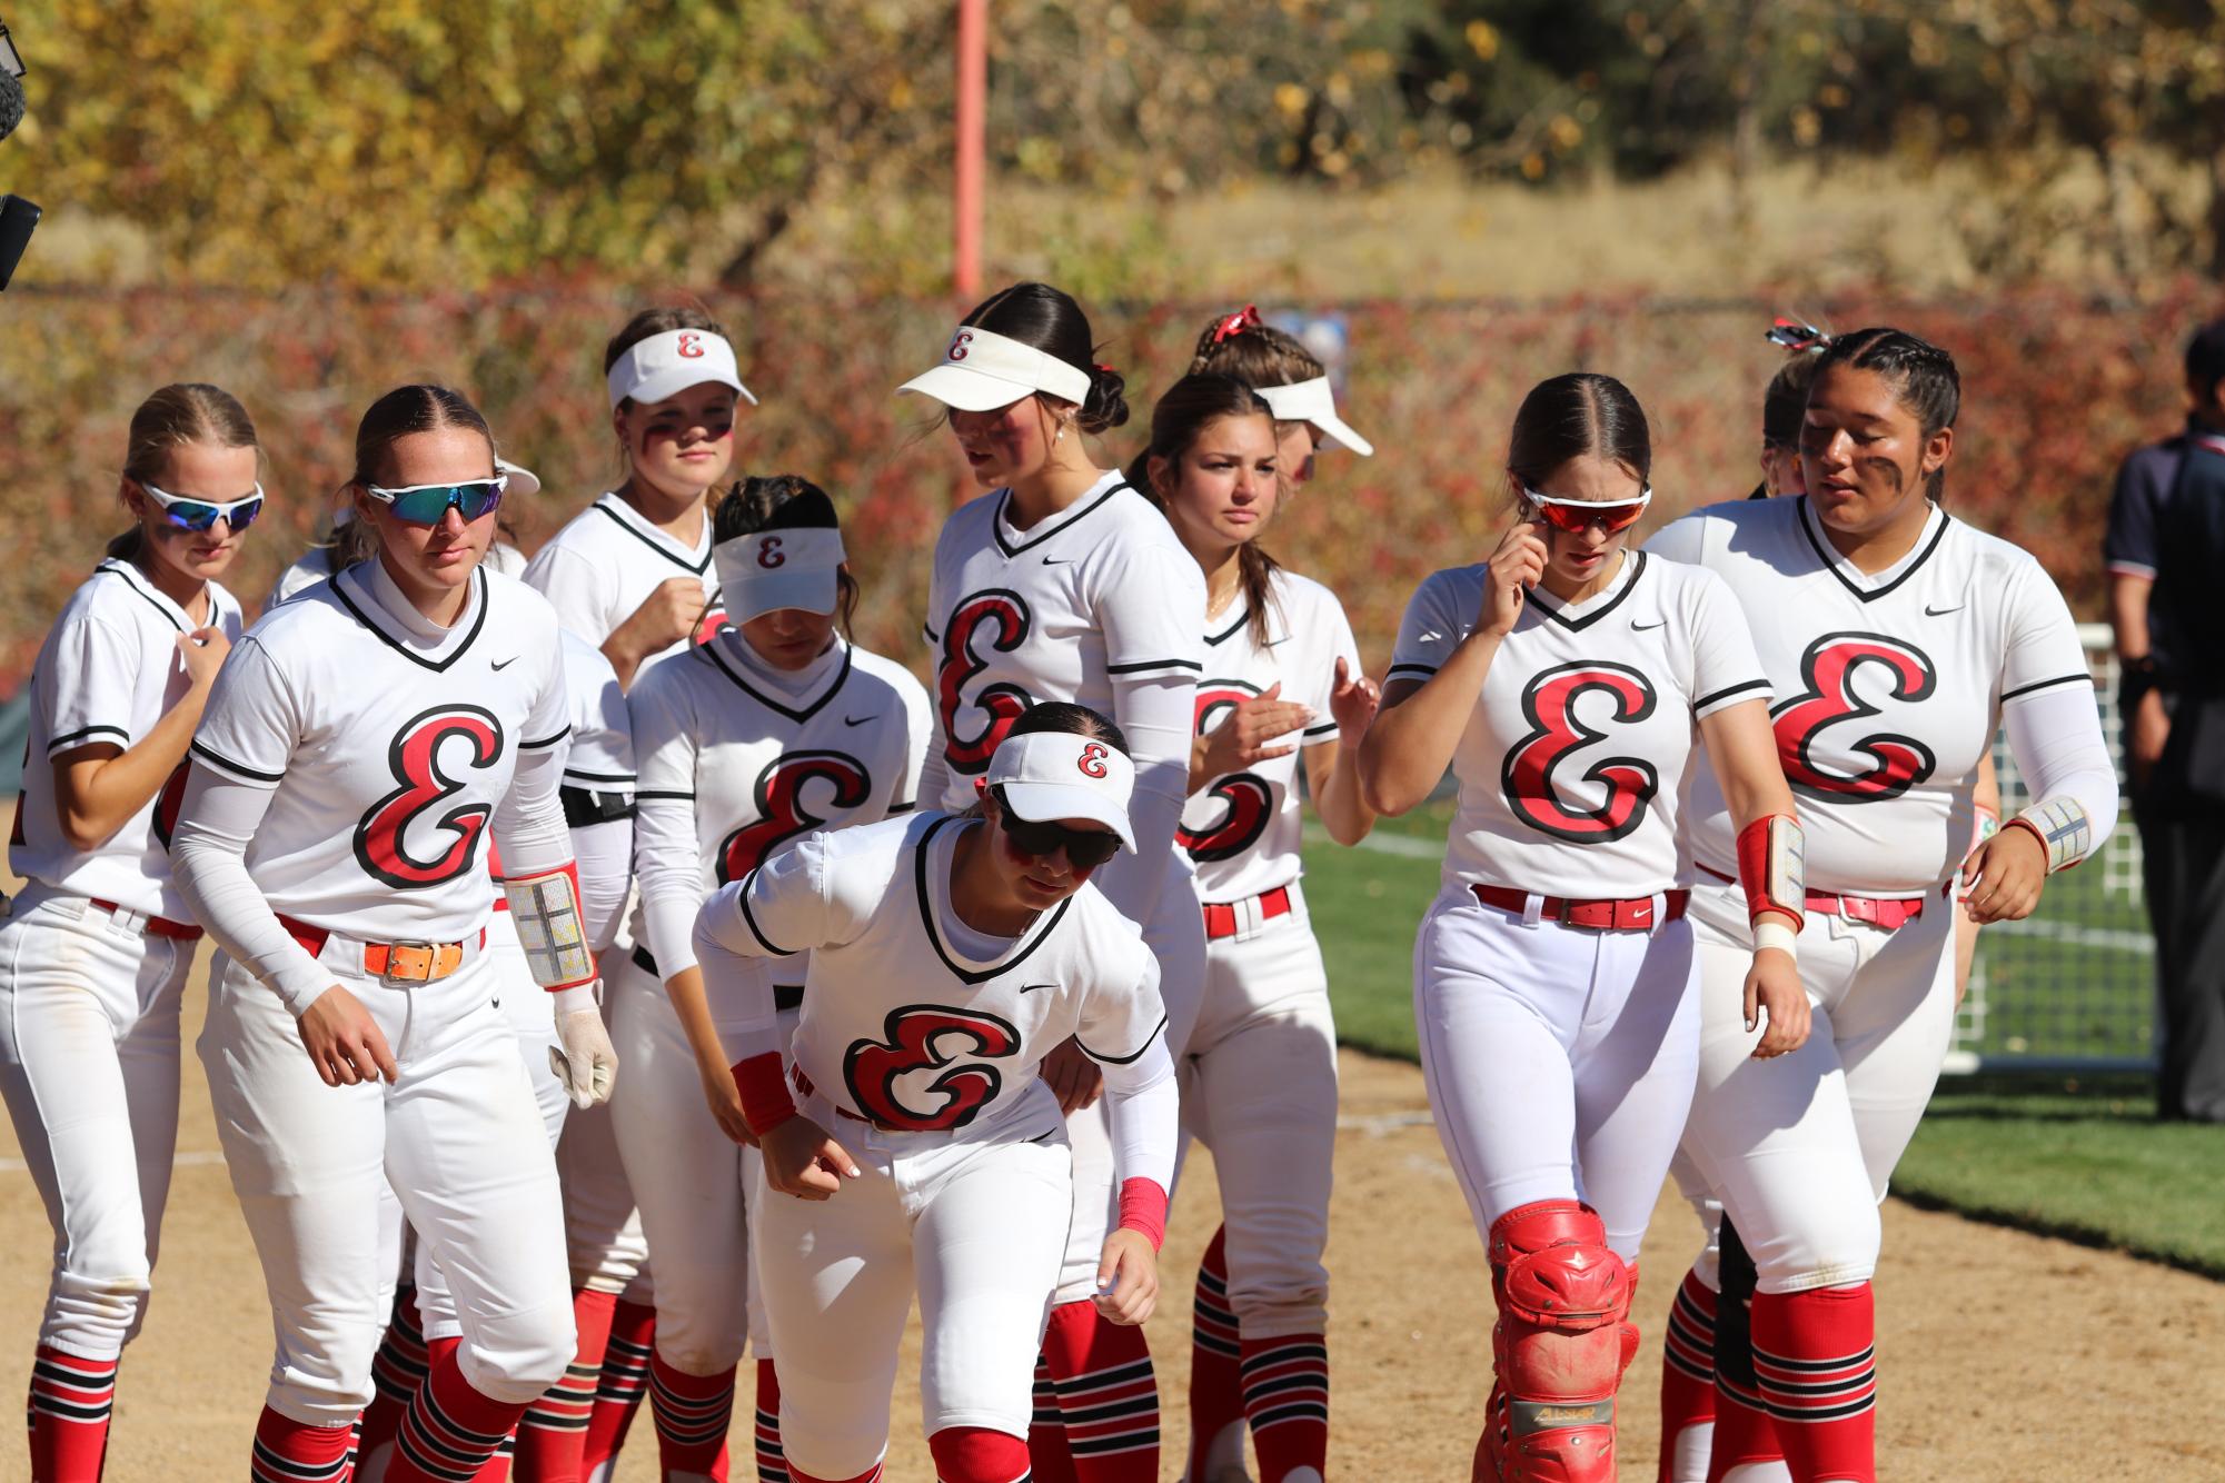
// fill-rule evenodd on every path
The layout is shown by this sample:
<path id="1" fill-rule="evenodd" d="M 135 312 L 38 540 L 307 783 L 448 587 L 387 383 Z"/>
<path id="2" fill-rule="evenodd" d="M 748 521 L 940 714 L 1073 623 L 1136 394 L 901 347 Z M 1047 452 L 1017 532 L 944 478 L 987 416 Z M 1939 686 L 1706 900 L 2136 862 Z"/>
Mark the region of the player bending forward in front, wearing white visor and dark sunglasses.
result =
<path id="1" fill-rule="evenodd" d="M 881 1476 L 914 1290 L 937 1476 L 1030 1476 L 1030 1372 L 1075 1198 L 1059 1098 L 1037 1072 L 1068 1038 L 1117 1112 L 1119 1225 L 1092 1263 L 1095 1305 L 1137 1325 L 1157 1296 L 1177 1125 L 1166 1012 L 1135 923 L 1090 887 L 1141 843 L 1135 765 L 1104 716 L 1037 705 L 981 778 L 961 816 L 812 834 L 721 887 L 696 925 L 777 1192 L 759 1243 L 797 1483 Z M 812 954 L 792 1038 L 801 1112 L 770 963 L 797 952 Z"/>

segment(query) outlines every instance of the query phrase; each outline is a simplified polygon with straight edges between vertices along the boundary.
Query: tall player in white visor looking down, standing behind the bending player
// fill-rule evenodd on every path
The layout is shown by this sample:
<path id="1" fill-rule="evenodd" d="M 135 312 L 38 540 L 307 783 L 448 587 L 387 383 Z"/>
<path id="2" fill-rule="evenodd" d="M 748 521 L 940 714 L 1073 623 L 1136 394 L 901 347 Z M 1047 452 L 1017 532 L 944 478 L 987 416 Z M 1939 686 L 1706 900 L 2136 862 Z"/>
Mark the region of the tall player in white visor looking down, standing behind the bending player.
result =
<path id="1" fill-rule="evenodd" d="M 1090 345 L 1072 298 L 1024 282 L 968 313 L 941 365 L 903 385 L 950 409 L 966 462 L 992 489 L 952 514 L 934 547 L 926 636 L 937 731 L 919 798 L 970 805 L 997 743 L 1030 703 L 1075 700 L 1110 714 L 1135 749 L 1137 852 L 1099 889 L 1141 923 L 1159 958 L 1168 1045 L 1179 1056 L 1206 958 L 1188 858 L 1175 849 L 1206 585 L 1159 511 L 1081 447 L 1077 434 L 1128 420 L 1121 376 L 1095 365 Z M 1068 1047 L 1048 1065 L 1068 1107 L 1077 1205 L 1044 1343 L 1035 1470 L 1044 1483 L 1155 1479 L 1150 1350 L 1139 1330 L 1101 1325 L 1088 1301 L 1115 1198 L 1104 1109 L 1086 1105 L 1095 1072 Z"/>

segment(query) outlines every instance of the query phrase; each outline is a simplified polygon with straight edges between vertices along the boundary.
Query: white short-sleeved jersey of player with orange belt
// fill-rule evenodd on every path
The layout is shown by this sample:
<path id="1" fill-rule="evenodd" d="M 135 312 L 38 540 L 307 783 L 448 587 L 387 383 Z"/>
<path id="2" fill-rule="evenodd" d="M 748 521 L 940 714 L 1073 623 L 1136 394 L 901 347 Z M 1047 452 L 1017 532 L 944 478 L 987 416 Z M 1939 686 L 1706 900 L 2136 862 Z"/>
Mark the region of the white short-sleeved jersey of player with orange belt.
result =
<path id="1" fill-rule="evenodd" d="M 245 856 L 269 907 L 376 943 L 476 932 L 518 754 L 570 734 L 556 631 L 541 594 L 485 571 L 438 629 L 378 563 L 265 614 L 216 680 L 194 760 L 271 789 Z"/>

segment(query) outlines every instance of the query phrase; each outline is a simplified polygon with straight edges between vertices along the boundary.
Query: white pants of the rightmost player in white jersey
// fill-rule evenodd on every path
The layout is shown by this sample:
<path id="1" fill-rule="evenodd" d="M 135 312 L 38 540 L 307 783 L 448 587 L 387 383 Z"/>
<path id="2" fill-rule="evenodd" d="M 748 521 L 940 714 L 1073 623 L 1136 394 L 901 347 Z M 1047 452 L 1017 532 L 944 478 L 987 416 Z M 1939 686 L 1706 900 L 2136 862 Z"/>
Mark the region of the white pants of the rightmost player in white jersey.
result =
<path id="1" fill-rule="evenodd" d="M 1807 1045 L 1753 1061 L 1740 1003 L 1747 909 L 1736 885 L 1691 896 L 1700 943 L 1700 1089 L 1684 1145 L 1738 1225 L 1762 1292 L 1862 1283 L 1878 1203 L 1916 1136 L 1954 1034 L 1954 903 L 1893 932 L 1809 912 Z"/>

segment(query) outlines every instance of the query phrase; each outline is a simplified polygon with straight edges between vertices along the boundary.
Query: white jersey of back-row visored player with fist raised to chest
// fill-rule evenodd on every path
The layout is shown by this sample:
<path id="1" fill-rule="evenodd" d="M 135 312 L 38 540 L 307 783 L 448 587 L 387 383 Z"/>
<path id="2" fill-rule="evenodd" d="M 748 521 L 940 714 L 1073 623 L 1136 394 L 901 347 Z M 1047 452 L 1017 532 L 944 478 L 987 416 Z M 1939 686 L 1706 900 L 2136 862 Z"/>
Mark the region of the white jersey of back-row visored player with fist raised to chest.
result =
<path id="1" fill-rule="evenodd" d="M 645 658 L 641 667 L 647 669 L 725 627 L 710 547 L 708 514 L 694 547 L 683 547 L 616 494 L 603 494 L 534 551 L 525 565 L 525 583 L 550 600 L 567 629 L 601 645 L 663 583 L 674 576 L 696 578 L 703 585 L 703 618 L 692 636 Z"/>

